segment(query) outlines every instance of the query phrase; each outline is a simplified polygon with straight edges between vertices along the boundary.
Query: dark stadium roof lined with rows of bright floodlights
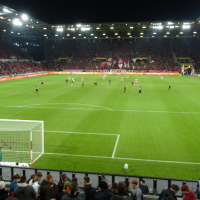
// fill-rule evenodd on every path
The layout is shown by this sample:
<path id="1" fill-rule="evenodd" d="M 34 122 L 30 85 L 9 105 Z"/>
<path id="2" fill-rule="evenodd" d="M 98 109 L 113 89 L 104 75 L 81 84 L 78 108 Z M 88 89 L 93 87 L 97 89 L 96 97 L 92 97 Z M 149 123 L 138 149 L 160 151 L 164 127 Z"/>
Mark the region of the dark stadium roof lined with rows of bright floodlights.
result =
<path id="1" fill-rule="evenodd" d="M 200 18 L 191 21 L 48 24 L 0 5 L 0 35 L 48 39 L 199 37 Z"/>

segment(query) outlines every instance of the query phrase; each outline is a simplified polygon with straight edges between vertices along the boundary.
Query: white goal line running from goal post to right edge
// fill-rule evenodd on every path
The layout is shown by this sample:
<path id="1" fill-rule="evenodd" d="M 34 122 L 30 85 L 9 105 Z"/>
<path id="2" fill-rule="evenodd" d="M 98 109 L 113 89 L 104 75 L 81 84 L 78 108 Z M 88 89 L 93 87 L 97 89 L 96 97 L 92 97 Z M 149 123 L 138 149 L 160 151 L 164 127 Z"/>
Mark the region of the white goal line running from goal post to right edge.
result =
<path id="1" fill-rule="evenodd" d="M 148 159 L 137 159 L 137 158 L 120 158 L 120 157 L 90 156 L 90 155 L 76 155 L 76 154 L 44 153 L 43 155 L 58 155 L 58 156 L 72 156 L 72 157 L 74 156 L 74 157 L 85 157 L 85 158 L 104 158 L 104 159 L 116 159 L 116 160 L 133 160 L 133 161 L 142 161 L 142 162 L 160 162 L 160 163 L 172 163 L 172 164 L 200 165 L 200 163 L 193 163 L 193 162 L 148 160 Z"/>

